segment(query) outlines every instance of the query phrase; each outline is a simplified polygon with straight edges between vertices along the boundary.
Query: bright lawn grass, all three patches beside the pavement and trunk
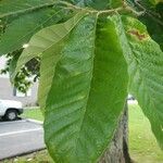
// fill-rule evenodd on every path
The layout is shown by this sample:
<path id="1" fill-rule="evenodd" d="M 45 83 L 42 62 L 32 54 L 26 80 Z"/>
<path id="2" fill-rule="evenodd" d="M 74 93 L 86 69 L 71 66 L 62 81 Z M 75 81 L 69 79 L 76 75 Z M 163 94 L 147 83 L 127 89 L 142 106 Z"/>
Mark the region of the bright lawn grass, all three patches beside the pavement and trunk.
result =
<path id="1" fill-rule="evenodd" d="M 26 110 L 23 117 L 42 121 L 43 116 L 38 109 Z M 143 116 L 137 104 L 129 104 L 129 150 L 136 163 L 163 163 L 163 152 L 160 150 L 154 136 L 151 133 L 150 124 Z M 51 163 L 47 151 L 41 151 L 14 159 L 16 163 Z M 12 163 L 7 161 L 5 163 Z"/>

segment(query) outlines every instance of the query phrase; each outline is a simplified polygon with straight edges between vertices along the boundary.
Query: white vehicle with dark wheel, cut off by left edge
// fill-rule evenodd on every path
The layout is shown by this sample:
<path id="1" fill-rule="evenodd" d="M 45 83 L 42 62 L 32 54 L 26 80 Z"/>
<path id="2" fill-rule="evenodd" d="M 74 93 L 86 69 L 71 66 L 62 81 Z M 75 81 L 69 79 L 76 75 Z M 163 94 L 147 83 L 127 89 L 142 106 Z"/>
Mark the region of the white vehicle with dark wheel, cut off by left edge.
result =
<path id="1" fill-rule="evenodd" d="M 14 121 L 23 113 L 22 102 L 12 100 L 0 100 L 0 117 Z"/>

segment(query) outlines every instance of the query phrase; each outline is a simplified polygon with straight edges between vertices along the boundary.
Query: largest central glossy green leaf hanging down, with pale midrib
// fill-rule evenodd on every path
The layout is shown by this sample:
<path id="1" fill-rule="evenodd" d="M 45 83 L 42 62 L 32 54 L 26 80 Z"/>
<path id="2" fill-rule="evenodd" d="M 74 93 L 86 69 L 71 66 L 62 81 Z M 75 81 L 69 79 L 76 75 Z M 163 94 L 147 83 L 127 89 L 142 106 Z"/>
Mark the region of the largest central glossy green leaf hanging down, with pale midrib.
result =
<path id="1" fill-rule="evenodd" d="M 96 26 L 97 17 L 85 17 L 61 46 L 60 58 L 47 53 L 42 73 L 53 78 L 43 126 L 55 162 L 96 162 L 111 142 L 125 104 L 127 66 L 114 26 L 99 24 L 97 35 Z M 57 62 L 54 74 L 46 68 L 50 59 Z"/>

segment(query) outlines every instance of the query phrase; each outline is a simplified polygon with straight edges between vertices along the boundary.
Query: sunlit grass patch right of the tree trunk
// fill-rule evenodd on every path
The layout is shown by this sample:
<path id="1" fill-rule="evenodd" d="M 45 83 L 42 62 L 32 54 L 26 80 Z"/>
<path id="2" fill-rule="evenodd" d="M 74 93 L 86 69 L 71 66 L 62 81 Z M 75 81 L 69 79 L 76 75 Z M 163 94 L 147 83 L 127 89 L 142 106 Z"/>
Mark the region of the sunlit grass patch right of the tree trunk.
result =
<path id="1" fill-rule="evenodd" d="M 129 148 L 131 158 L 138 163 L 163 163 L 163 151 L 137 104 L 129 105 Z"/>

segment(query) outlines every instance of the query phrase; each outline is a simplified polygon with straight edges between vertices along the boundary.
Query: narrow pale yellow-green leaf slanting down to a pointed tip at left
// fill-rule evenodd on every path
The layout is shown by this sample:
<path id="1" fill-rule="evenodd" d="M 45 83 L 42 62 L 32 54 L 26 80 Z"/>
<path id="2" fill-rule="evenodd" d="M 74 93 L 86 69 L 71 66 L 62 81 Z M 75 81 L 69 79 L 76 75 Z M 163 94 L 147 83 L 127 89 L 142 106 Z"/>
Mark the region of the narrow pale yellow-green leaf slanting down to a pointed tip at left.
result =
<path id="1" fill-rule="evenodd" d="M 63 24 L 49 26 L 35 34 L 28 42 L 28 47 L 23 51 L 17 61 L 13 78 L 25 63 L 33 58 L 38 55 L 41 57 L 43 52 L 48 51 L 52 46 L 55 46 L 57 42 L 66 37 L 85 14 L 85 12 L 79 12 L 73 18 Z"/>

